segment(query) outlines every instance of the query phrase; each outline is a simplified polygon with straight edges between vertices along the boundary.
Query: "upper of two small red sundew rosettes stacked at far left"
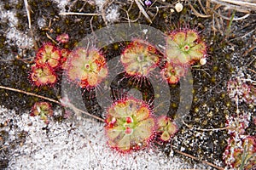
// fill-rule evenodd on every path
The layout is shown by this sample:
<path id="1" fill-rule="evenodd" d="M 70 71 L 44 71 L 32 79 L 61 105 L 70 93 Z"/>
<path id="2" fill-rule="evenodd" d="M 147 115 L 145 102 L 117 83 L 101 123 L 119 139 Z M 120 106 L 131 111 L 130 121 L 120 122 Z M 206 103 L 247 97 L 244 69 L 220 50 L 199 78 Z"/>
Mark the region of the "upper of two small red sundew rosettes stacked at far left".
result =
<path id="1" fill-rule="evenodd" d="M 35 59 L 37 65 L 49 65 L 51 68 L 56 68 L 61 63 L 61 51 L 52 43 L 44 43 L 42 48 L 39 48 Z"/>

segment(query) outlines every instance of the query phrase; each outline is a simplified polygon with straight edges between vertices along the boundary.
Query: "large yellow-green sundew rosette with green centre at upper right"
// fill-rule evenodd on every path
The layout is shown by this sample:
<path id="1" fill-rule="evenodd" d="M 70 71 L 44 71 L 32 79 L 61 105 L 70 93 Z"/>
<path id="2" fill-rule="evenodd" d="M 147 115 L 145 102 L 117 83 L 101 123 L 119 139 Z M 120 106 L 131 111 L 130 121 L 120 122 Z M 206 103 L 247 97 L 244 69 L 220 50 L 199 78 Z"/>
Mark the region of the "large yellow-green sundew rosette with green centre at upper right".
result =
<path id="1" fill-rule="evenodd" d="M 192 65 L 206 58 L 207 46 L 194 30 L 172 31 L 166 37 L 166 60 L 177 65 Z"/>

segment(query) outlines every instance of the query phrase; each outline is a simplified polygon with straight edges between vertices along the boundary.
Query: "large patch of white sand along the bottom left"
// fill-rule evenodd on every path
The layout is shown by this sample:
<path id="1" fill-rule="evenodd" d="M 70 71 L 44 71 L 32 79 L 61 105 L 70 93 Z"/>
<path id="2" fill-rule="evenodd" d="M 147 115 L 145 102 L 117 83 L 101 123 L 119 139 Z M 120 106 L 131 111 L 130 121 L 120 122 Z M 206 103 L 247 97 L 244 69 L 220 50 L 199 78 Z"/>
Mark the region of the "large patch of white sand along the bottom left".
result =
<path id="1" fill-rule="evenodd" d="M 55 111 L 60 114 L 60 111 Z M 2 147 L 15 144 L 21 131 L 27 133 L 26 141 L 11 150 L 8 169 L 184 169 L 189 166 L 177 157 L 167 157 L 160 150 L 149 146 L 131 154 L 121 155 L 108 147 L 103 124 L 77 117 L 62 123 L 49 123 L 49 132 L 38 117 L 24 113 L 17 116 L 3 106 L 0 123 L 13 120 L 14 128 L 3 127 L 9 139 Z M 32 123 L 32 125 L 31 125 Z M 9 124 L 8 124 L 9 125 Z"/>

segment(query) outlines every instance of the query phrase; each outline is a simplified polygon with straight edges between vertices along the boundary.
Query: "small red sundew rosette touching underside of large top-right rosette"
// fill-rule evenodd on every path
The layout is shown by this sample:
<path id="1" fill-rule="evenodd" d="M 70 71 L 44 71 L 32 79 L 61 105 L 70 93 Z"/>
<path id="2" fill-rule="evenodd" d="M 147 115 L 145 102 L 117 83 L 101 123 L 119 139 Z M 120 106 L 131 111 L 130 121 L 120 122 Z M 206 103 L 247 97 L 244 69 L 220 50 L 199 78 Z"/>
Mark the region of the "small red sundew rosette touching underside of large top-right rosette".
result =
<path id="1" fill-rule="evenodd" d="M 166 62 L 166 65 L 161 70 L 161 75 L 164 80 L 170 84 L 176 84 L 180 77 L 184 77 L 187 72 L 187 68 L 184 65 L 173 65 Z"/>

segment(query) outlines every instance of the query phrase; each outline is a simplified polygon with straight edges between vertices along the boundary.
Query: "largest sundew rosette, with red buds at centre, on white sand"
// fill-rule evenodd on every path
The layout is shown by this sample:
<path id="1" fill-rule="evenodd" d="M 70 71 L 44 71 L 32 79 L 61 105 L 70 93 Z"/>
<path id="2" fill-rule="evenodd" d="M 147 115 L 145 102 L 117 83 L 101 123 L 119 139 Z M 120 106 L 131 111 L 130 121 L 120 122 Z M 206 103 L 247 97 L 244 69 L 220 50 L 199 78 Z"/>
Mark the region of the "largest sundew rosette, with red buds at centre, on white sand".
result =
<path id="1" fill-rule="evenodd" d="M 120 99 L 108 108 L 105 122 L 109 146 L 122 153 L 142 149 L 154 137 L 154 118 L 143 100 Z"/>

